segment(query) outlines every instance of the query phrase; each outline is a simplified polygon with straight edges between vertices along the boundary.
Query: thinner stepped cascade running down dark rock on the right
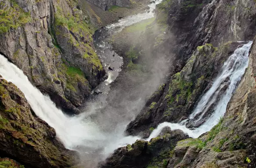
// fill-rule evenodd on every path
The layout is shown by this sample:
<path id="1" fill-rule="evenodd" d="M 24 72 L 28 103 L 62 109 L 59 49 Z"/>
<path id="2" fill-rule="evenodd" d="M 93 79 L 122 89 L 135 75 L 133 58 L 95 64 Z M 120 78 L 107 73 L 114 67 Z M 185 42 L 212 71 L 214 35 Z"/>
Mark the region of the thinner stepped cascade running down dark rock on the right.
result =
<path id="1" fill-rule="evenodd" d="M 188 129 L 185 124 L 189 123 L 188 119 L 181 121 L 180 123 L 161 123 L 159 126 L 153 130 L 150 137 L 157 137 L 162 129 L 166 126 L 170 127 L 172 130 L 180 129 L 184 133 L 187 133 L 190 137 L 197 138 L 203 133 L 211 130 L 215 126 L 221 116 L 224 115 L 227 108 L 227 103 L 230 101 L 232 94 L 234 93 L 239 81 L 241 80 L 245 69 L 248 67 L 249 63 L 249 49 L 251 48 L 252 42 L 243 45 L 242 47 L 236 49 L 234 53 L 227 59 L 224 63 L 219 75 L 213 82 L 212 87 L 202 96 L 195 110 L 189 116 L 193 125 L 198 123 L 202 124 L 206 118 L 206 121 L 198 128 Z M 228 88 L 221 92 L 221 89 L 225 84 L 228 84 Z M 219 100 L 217 98 L 220 97 Z M 216 102 L 217 101 L 217 102 Z M 209 107 L 214 105 L 214 110 L 211 115 L 205 115 Z"/>

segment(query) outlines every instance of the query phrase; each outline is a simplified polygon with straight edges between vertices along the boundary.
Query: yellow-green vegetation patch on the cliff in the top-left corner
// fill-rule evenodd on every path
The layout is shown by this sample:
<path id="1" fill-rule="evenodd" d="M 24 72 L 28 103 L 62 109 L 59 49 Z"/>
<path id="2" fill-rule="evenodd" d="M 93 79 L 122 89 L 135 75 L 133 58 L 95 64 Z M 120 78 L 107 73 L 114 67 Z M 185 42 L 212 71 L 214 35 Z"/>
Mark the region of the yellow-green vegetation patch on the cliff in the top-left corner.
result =
<path id="1" fill-rule="evenodd" d="M 25 12 L 15 0 L 11 0 L 11 4 L 11 7 L 0 10 L 0 33 L 5 33 L 11 28 L 18 28 L 31 21 L 30 12 Z M 1 6 L 4 6 L 3 1 L 0 2 Z"/>

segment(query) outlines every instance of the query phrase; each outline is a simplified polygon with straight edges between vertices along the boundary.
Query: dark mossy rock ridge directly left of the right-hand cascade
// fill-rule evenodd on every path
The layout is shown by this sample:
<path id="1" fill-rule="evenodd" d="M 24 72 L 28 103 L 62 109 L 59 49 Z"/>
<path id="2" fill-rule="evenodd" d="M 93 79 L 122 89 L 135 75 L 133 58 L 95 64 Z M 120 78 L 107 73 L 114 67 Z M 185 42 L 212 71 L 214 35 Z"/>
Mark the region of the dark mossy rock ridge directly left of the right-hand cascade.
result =
<path id="1" fill-rule="evenodd" d="M 224 61 L 241 44 L 228 42 L 219 48 L 210 44 L 199 46 L 186 66 L 170 78 L 166 87 L 159 88 L 151 96 L 141 113 L 127 126 L 127 131 L 132 135 L 144 131 L 142 136 L 148 137 L 151 127 L 164 121 L 177 123 L 189 116 Z"/>

